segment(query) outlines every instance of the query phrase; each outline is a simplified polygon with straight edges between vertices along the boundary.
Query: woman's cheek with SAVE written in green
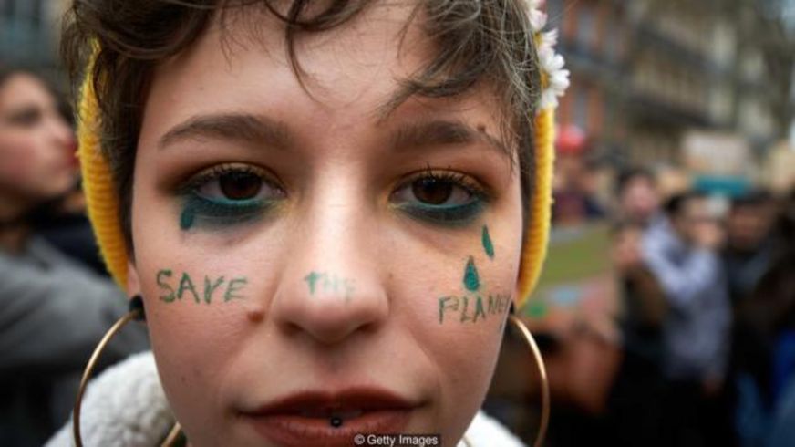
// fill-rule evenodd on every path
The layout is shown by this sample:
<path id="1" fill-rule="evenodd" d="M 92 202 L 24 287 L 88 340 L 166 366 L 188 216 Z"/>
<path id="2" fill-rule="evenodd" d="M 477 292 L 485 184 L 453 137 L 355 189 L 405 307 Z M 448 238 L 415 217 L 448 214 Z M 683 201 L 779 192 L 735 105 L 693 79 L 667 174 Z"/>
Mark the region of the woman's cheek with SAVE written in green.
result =
<path id="1" fill-rule="evenodd" d="M 140 292 L 160 378 L 178 420 L 221 432 L 219 388 L 243 351 L 254 296 L 265 296 L 278 257 L 253 262 L 240 244 L 181 232 L 168 199 L 133 194 L 133 236 Z M 262 253 L 267 242 L 250 244 Z M 253 271 L 253 270 L 256 271 Z"/>

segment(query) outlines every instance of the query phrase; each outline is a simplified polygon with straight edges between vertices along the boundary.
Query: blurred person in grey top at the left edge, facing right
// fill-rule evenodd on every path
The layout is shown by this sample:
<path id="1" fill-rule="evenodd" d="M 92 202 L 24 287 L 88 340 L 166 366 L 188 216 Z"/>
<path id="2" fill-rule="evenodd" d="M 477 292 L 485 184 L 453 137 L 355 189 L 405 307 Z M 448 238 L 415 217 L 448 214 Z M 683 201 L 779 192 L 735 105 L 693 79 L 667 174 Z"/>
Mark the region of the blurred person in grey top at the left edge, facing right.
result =
<path id="1" fill-rule="evenodd" d="M 33 236 L 76 182 L 75 139 L 41 78 L 0 70 L 0 445 L 41 445 L 67 420 L 79 373 L 127 308 L 108 280 Z M 112 299 L 113 296 L 118 299 Z M 145 348 L 141 328 L 108 361 Z"/>

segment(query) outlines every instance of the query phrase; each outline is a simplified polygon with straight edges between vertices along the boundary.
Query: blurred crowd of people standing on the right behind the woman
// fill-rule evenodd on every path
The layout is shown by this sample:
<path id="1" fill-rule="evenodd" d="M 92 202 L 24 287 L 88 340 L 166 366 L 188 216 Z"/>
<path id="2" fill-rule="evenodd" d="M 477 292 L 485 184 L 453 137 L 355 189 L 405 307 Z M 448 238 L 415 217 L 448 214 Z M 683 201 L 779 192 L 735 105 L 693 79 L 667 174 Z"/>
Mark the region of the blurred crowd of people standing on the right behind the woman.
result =
<path id="1" fill-rule="evenodd" d="M 542 338 L 548 444 L 795 445 L 795 189 L 716 194 L 635 166 L 605 198 L 584 136 L 558 146 L 553 228 L 610 225 L 620 312 L 613 336 Z"/>

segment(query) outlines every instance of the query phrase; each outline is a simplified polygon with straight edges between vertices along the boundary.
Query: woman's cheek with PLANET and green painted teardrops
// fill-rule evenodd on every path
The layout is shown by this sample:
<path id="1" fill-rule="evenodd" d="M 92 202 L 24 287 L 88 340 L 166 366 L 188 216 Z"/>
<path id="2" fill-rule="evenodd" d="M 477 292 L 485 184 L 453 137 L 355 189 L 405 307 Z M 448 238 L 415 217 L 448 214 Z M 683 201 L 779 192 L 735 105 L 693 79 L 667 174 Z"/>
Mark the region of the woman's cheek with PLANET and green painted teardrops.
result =
<path id="1" fill-rule="evenodd" d="M 409 316 L 405 324 L 413 325 L 412 335 L 436 369 L 441 419 L 461 431 L 488 391 L 521 254 L 521 219 L 486 227 L 472 231 L 472 244 L 454 255 L 398 262 L 405 267 L 396 277 L 406 279 L 393 296 L 405 299 L 391 305 L 396 315 Z"/>

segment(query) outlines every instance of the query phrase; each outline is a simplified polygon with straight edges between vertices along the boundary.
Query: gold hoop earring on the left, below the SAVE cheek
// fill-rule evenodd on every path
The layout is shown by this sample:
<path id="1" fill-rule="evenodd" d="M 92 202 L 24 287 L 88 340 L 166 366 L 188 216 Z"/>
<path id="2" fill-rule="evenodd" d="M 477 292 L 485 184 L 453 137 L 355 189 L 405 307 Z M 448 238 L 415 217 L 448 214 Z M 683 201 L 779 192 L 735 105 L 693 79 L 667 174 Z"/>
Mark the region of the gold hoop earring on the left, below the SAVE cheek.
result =
<path id="1" fill-rule="evenodd" d="M 97 366 L 97 361 L 99 356 L 102 354 L 102 351 L 108 346 L 110 340 L 119 333 L 122 327 L 127 325 L 132 320 L 144 321 L 146 320 L 146 313 L 144 312 L 143 308 L 143 299 L 139 296 L 133 296 L 129 300 L 129 312 L 125 314 L 123 317 L 120 317 L 116 323 L 113 324 L 108 329 L 108 332 L 105 333 L 104 336 L 99 340 L 97 344 L 97 348 L 94 348 L 94 352 L 91 353 L 91 357 L 88 359 L 88 363 L 86 364 L 86 369 L 83 369 L 83 377 L 80 379 L 80 387 L 77 389 L 77 398 L 75 399 L 75 408 L 72 411 L 72 436 L 75 441 L 75 445 L 77 447 L 83 447 L 83 437 L 80 434 L 80 408 L 83 404 L 83 393 L 86 391 L 86 385 L 88 384 L 88 379 L 91 378 L 91 373 L 94 371 L 94 368 Z M 169 434 L 166 436 L 165 441 L 161 444 L 162 446 L 172 446 L 177 442 L 180 438 L 181 434 L 181 427 L 179 422 L 175 422 L 174 426 L 169 431 Z"/>

